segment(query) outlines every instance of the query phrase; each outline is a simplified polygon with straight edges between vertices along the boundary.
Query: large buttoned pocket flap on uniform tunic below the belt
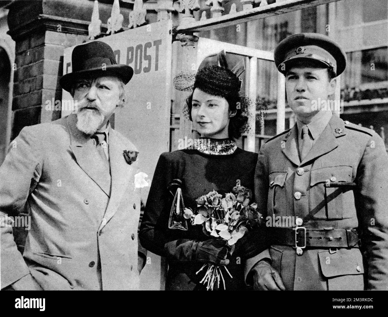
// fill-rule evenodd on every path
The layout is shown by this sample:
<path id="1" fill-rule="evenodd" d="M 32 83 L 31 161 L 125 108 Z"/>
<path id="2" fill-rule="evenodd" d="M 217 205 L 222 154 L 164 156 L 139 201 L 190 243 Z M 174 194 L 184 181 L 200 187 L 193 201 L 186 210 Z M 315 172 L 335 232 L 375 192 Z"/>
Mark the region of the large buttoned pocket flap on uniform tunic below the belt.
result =
<path id="1" fill-rule="evenodd" d="M 338 249 L 330 254 L 328 250 L 318 252 L 320 267 L 325 277 L 357 275 L 364 273 L 362 255 L 359 249 Z"/>

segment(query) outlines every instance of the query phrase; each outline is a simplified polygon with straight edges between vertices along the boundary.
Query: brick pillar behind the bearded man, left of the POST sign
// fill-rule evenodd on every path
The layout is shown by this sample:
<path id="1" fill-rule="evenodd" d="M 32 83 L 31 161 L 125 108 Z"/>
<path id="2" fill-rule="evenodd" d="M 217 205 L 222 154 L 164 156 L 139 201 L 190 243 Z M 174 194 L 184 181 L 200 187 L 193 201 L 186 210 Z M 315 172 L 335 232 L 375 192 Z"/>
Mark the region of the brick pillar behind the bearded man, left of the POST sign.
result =
<path id="1" fill-rule="evenodd" d="M 16 42 L 12 139 L 24 126 L 60 118 L 59 111 L 45 109 L 46 101 L 62 98 L 64 49 L 85 40 L 86 35 L 42 31 Z"/>

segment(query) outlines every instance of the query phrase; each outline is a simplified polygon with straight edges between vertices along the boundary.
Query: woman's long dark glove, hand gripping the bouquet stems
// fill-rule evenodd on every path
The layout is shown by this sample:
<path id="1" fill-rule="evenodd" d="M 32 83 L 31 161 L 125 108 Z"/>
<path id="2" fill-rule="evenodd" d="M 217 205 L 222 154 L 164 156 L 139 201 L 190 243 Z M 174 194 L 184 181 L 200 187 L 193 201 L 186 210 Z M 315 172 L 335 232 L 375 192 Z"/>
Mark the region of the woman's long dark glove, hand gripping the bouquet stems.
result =
<path id="1" fill-rule="evenodd" d="M 227 241 L 209 239 L 194 241 L 179 239 L 165 244 L 165 252 L 169 258 L 178 261 L 198 261 L 214 265 L 228 265 L 229 248 Z"/>

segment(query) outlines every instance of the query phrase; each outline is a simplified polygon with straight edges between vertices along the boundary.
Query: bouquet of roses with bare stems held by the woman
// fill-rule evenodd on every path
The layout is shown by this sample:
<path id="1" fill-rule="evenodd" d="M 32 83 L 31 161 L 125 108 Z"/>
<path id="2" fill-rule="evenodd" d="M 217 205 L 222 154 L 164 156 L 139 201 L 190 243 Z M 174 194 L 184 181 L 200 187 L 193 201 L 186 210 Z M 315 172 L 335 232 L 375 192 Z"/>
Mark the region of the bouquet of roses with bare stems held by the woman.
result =
<path id="1" fill-rule="evenodd" d="M 202 225 L 204 234 L 227 241 L 227 244 L 232 246 L 230 253 L 233 252 L 236 241 L 242 238 L 248 229 L 258 226 L 262 219 L 256 203 L 250 204 L 251 190 L 235 186 L 232 191 L 233 193 L 227 193 L 224 198 L 217 191 L 211 191 L 196 200 L 195 210 L 184 209 L 185 219 L 191 219 L 193 225 Z M 206 266 L 208 269 L 200 283 L 206 283 L 206 288 L 213 290 L 216 283 L 220 286 L 222 279 L 225 289 L 221 267 L 204 264 L 196 274 Z M 224 268 L 232 277 L 226 266 Z"/>

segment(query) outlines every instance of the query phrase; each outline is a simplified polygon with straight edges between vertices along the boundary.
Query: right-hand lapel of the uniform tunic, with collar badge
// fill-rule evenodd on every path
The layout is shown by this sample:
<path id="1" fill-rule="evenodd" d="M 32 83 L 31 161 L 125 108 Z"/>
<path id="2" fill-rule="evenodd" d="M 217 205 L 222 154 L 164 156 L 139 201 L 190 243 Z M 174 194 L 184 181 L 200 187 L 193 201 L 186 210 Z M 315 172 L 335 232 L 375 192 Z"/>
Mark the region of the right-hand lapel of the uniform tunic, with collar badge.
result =
<path id="1" fill-rule="evenodd" d="M 329 124 L 327 124 L 318 137 L 318 140 L 312 146 L 310 152 L 308 152 L 305 159 L 302 161 L 302 164 L 334 150 L 338 146 L 336 139 L 343 135 L 345 135 L 345 124 L 339 117 L 333 115 Z"/>

